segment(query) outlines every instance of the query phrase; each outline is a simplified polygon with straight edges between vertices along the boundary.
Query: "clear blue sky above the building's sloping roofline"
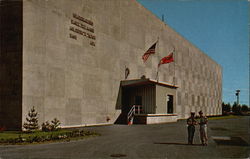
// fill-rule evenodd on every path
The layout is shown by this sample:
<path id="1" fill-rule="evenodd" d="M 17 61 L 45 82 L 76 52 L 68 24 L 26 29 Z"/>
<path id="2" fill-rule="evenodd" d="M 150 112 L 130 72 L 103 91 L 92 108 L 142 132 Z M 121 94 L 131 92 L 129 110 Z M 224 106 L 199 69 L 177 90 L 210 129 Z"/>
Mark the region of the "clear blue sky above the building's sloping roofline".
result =
<path id="1" fill-rule="evenodd" d="M 250 0 L 137 1 L 221 65 L 223 102 L 250 105 Z"/>

